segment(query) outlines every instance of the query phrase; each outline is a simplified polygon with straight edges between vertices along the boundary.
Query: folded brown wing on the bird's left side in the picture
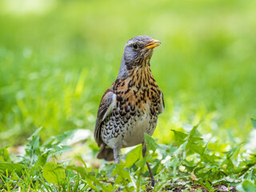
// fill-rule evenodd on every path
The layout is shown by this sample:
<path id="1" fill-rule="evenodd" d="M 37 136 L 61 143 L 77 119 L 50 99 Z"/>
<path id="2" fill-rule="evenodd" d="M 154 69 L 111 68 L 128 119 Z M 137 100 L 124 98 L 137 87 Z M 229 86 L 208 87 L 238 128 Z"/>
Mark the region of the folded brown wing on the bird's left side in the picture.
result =
<path id="1" fill-rule="evenodd" d="M 115 97 L 116 96 L 113 93 L 113 86 L 110 86 L 110 88 L 106 90 L 105 94 L 103 94 L 102 101 L 98 107 L 98 115 L 94 128 L 94 139 L 98 143 L 98 146 L 101 146 L 103 143 L 101 137 L 102 122 L 106 116 L 112 112 L 116 102 Z"/>

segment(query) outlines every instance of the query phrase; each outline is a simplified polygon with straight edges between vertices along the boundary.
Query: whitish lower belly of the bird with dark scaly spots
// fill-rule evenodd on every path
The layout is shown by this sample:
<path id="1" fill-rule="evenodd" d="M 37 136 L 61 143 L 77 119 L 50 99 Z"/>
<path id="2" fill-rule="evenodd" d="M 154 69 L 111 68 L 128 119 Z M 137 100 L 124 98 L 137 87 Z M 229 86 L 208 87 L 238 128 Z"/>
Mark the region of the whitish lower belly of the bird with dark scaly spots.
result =
<path id="1" fill-rule="evenodd" d="M 154 133 L 157 121 L 157 109 L 155 114 L 150 114 L 147 107 L 143 110 L 134 108 L 126 112 L 117 107 L 102 124 L 102 141 L 111 148 L 117 143 L 122 147 L 138 145 L 144 141 L 144 133 Z"/>

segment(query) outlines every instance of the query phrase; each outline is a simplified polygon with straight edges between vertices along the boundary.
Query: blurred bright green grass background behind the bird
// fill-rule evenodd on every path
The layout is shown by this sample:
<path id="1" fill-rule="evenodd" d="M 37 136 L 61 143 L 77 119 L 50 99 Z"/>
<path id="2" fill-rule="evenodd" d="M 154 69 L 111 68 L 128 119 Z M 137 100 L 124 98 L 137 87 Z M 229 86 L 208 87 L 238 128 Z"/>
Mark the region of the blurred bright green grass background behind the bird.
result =
<path id="1" fill-rule="evenodd" d="M 162 42 L 151 70 L 166 100 L 154 138 L 196 125 L 246 141 L 256 117 L 256 2 L 249 0 L 0 1 L 0 145 L 94 129 L 125 43 Z M 92 134 L 93 135 L 93 134 Z M 93 136 L 91 136 L 93 138 Z"/>

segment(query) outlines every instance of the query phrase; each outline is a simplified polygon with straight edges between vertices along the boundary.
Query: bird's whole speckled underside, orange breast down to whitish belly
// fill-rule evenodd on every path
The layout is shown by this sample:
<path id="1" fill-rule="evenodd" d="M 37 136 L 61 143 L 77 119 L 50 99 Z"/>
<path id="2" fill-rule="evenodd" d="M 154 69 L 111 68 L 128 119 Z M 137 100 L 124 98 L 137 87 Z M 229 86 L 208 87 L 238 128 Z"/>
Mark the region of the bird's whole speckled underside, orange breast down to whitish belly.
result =
<path id="1" fill-rule="evenodd" d="M 144 71 L 141 74 L 146 73 Z M 144 142 L 144 133 L 154 133 L 161 90 L 152 75 L 143 77 L 137 75 L 132 79 L 114 82 L 116 105 L 102 122 L 101 132 L 102 141 L 111 148 L 138 145 Z"/>

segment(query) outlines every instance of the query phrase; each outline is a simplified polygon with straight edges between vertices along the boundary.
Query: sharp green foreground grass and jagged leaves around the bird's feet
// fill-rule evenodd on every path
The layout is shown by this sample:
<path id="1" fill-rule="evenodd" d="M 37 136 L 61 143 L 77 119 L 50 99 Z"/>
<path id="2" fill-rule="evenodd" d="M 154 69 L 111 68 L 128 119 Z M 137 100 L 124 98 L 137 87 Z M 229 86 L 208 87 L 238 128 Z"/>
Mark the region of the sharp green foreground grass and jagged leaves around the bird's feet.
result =
<path id="1" fill-rule="evenodd" d="M 254 124 L 256 122 L 252 120 Z M 167 191 L 182 186 L 182 190 L 216 191 L 226 185 L 234 191 L 254 191 L 256 154 L 246 154 L 242 144 L 219 154 L 210 150 L 214 142 L 205 142 L 198 126 L 186 126 L 187 132 L 172 130 L 175 135 L 171 145 L 159 145 L 154 138 L 145 135 L 148 152 L 142 158 L 139 145 L 126 154 L 120 164 L 102 163 L 90 168 L 88 162 L 77 156 L 80 166 L 62 161 L 62 154 L 71 150 L 66 146 L 74 131 L 51 137 L 40 142 L 40 130 L 36 130 L 26 144 L 26 154 L 13 156 L 6 148 L 0 152 L 1 191 Z M 215 143 L 216 144 L 216 143 Z M 94 150 L 95 152 L 95 150 Z M 92 154 L 94 154 L 94 152 Z M 153 166 L 157 180 L 150 188 L 146 162 Z M 174 190 L 175 191 L 175 190 Z"/>

